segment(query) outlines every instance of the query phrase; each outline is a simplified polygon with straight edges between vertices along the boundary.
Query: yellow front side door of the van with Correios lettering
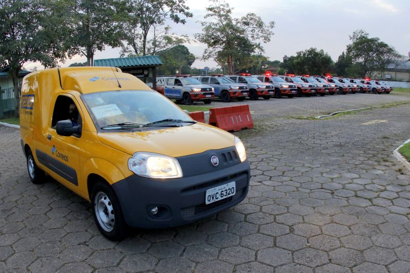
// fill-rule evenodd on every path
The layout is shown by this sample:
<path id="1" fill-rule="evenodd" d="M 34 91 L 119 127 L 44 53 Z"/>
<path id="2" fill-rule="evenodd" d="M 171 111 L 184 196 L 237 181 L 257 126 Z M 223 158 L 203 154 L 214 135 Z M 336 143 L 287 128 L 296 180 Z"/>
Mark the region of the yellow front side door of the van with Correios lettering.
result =
<path id="1" fill-rule="evenodd" d="M 69 94 L 57 94 L 54 98 L 53 116 L 50 127 L 48 128 L 47 136 L 44 136 L 46 143 L 46 151 L 36 151 L 37 158 L 43 165 L 46 165 L 53 173 L 52 176 L 68 188 L 76 190 L 78 181 L 80 180 L 80 154 L 84 140 L 81 139 L 81 134 L 72 136 L 60 136 L 55 130 L 57 121 L 72 120 L 73 125 L 82 125 L 83 113 L 78 107 L 76 99 Z M 71 119 L 72 103 L 75 104 L 77 120 Z M 40 155 L 40 157 L 38 156 Z M 41 159 L 40 159 L 41 158 Z"/>

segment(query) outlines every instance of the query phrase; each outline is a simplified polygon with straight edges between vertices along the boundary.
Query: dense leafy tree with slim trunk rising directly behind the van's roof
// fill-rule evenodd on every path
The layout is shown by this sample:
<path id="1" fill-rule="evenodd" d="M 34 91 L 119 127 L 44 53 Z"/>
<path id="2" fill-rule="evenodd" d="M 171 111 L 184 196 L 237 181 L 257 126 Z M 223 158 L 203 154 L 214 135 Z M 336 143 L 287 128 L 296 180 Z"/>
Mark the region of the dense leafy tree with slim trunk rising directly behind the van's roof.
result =
<path id="1" fill-rule="evenodd" d="M 71 5 L 72 54 L 87 57 L 93 66 L 94 54 L 106 46 L 121 46 L 121 22 L 126 3 L 123 0 L 67 0 Z"/>

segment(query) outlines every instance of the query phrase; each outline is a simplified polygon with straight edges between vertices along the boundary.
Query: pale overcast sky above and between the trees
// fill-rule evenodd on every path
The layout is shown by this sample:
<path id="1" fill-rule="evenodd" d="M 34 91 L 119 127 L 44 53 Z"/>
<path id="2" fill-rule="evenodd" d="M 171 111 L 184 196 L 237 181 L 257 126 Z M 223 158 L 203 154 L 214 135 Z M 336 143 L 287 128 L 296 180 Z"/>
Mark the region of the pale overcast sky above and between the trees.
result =
<path id="1" fill-rule="evenodd" d="M 281 60 L 283 55 L 295 55 L 297 51 L 311 47 L 323 49 L 333 60 L 350 43 L 348 36 L 357 29 L 367 31 L 371 37 L 379 37 L 405 56 L 410 51 L 410 1 L 409 0 L 229 0 L 234 7 L 233 16 L 244 16 L 253 12 L 267 23 L 275 22 L 270 43 L 264 44 L 265 56 L 270 60 Z M 198 23 L 204 20 L 208 0 L 187 0 L 193 18 L 185 25 L 170 24 L 172 32 L 188 34 L 193 38 L 201 32 Z M 208 20 L 208 19 L 207 19 Z M 192 41 L 188 49 L 200 57 L 205 45 Z M 119 57 L 119 49 L 107 48 L 97 52 L 94 59 Z M 76 56 L 61 66 L 72 62 L 83 62 L 86 58 Z M 28 64 L 26 68 L 35 66 Z M 193 67 L 216 67 L 212 60 L 196 60 Z"/>

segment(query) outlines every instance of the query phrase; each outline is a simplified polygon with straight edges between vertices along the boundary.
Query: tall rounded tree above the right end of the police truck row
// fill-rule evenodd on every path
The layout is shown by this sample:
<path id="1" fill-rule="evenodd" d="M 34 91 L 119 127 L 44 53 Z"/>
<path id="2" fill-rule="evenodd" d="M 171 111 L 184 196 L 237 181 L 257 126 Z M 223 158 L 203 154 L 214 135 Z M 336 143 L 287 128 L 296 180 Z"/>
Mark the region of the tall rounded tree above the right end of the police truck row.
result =
<path id="1" fill-rule="evenodd" d="M 361 76 L 372 76 L 373 72 L 383 71 L 389 63 L 403 58 L 393 47 L 377 37 L 370 38 L 364 30 L 356 30 L 349 38 L 352 43 L 347 45 L 346 54 L 354 64 L 361 65 Z"/>

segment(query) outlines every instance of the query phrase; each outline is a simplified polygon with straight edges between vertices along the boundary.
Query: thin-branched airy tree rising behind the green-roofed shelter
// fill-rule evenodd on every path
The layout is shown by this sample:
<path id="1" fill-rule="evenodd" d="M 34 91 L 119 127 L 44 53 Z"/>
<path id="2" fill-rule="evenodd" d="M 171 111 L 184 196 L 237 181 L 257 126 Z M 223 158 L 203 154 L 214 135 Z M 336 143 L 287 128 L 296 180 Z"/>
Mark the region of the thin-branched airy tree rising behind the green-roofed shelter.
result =
<path id="1" fill-rule="evenodd" d="M 185 24 L 183 17 L 193 16 L 185 0 L 127 0 L 127 11 L 122 56 L 154 55 L 189 41 L 187 35 L 171 33 L 166 25 L 167 20 Z"/>

